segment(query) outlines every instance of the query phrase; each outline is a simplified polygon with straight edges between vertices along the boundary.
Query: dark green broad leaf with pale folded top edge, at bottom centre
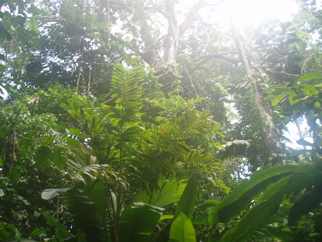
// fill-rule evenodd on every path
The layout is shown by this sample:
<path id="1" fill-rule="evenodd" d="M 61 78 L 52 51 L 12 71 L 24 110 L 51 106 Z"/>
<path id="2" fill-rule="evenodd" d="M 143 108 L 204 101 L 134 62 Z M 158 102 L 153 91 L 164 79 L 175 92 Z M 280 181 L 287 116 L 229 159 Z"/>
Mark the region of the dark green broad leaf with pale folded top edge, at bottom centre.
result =
<path id="1" fill-rule="evenodd" d="M 119 241 L 148 242 L 163 210 L 163 208 L 144 203 L 134 203 L 128 206 L 122 213 Z"/>

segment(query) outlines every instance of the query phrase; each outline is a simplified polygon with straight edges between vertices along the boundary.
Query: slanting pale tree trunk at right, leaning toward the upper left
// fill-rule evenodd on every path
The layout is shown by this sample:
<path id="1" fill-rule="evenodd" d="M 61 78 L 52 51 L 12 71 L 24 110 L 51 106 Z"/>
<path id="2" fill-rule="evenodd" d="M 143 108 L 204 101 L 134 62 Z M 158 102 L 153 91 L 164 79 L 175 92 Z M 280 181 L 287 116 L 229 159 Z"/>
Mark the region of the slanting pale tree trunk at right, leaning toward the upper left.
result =
<path id="1" fill-rule="evenodd" d="M 283 162 L 283 158 L 285 156 L 285 148 L 283 144 L 280 143 L 279 134 L 275 125 L 275 119 L 272 115 L 273 112 L 271 109 L 271 105 L 268 100 L 264 100 L 261 90 L 256 81 L 263 81 L 260 75 L 260 70 L 256 69 L 256 66 L 253 63 L 253 59 L 251 58 L 251 53 L 247 48 L 245 37 L 239 31 L 236 23 L 232 18 L 230 18 L 230 26 L 237 50 L 241 57 L 241 62 L 243 63 L 245 71 L 251 80 L 251 87 L 254 93 L 254 100 L 260 118 L 262 137 L 265 142 L 267 151 L 270 155 L 271 165 L 280 164 Z"/>

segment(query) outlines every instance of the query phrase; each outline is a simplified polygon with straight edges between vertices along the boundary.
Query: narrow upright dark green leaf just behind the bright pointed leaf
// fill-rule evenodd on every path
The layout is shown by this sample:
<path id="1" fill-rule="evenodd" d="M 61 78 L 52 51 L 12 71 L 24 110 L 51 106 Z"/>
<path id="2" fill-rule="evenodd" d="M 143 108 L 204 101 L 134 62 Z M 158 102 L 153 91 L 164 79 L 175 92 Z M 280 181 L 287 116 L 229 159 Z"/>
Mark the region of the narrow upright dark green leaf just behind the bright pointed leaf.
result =
<path id="1" fill-rule="evenodd" d="M 184 213 L 188 218 L 192 218 L 193 210 L 195 209 L 196 193 L 198 185 L 198 174 L 194 173 L 188 180 L 188 184 L 183 191 L 183 194 L 178 202 L 174 217 Z"/>

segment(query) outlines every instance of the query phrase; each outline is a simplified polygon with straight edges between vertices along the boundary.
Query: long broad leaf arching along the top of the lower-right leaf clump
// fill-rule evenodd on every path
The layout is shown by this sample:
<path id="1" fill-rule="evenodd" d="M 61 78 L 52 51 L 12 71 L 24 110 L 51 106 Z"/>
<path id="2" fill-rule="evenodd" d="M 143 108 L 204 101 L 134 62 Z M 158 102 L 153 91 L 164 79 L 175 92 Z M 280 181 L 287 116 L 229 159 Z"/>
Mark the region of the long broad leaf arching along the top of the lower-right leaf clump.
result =
<path id="1" fill-rule="evenodd" d="M 258 170 L 251 174 L 250 179 L 244 179 L 232 192 L 221 201 L 210 213 L 209 221 L 215 223 L 228 222 L 238 217 L 249 206 L 261 191 L 278 180 L 281 176 L 293 173 L 297 166 L 282 165 Z"/>

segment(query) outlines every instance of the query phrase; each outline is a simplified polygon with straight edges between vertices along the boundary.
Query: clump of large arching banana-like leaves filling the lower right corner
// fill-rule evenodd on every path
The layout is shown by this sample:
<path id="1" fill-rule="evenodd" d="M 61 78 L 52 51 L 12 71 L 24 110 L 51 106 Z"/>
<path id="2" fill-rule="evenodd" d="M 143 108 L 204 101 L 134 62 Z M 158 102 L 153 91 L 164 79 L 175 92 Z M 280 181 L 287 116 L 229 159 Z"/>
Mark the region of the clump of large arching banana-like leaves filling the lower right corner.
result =
<path id="1" fill-rule="evenodd" d="M 289 228 L 302 215 L 314 209 L 321 202 L 319 192 L 315 189 L 321 186 L 321 175 L 321 171 L 312 165 L 285 165 L 254 172 L 250 180 L 244 180 L 223 201 L 213 205 L 209 219 L 214 226 L 218 221 L 226 223 L 243 214 L 233 227 L 222 234 L 219 241 L 262 238 L 265 236 L 261 232 L 264 225 L 269 233 L 273 230 L 269 236 L 275 234 L 273 236 L 278 237 L 283 232 L 286 236 L 283 223 L 280 227 L 267 225 L 272 223 L 271 219 L 283 208 L 281 205 L 288 204 L 289 201 L 293 201 L 286 214 Z M 304 206 L 308 196 L 314 199 Z"/>

